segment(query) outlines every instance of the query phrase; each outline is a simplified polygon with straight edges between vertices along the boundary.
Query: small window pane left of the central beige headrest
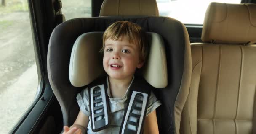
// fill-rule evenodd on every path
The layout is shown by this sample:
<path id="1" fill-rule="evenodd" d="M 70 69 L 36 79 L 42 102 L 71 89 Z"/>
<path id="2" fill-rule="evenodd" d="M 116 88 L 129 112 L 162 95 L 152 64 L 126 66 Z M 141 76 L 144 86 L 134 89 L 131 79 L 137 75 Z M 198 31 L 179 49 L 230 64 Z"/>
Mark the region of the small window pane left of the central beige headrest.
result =
<path id="1" fill-rule="evenodd" d="M 66 20 L 91 17 L 91 0 L 61 0 L 62 14 Z"/>

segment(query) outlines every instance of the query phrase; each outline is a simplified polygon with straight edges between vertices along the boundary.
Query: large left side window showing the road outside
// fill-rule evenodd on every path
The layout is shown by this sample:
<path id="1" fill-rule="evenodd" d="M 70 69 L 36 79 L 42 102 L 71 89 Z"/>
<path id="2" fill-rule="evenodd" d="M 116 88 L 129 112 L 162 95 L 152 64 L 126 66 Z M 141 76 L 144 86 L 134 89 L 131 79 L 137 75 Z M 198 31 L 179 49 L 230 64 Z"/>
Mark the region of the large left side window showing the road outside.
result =
<path id="1" fill-rule="evenodd" d="M 34 102 L 38 75 L 27 0 L 0 3 L 0 130 L 7 134 Z"/>

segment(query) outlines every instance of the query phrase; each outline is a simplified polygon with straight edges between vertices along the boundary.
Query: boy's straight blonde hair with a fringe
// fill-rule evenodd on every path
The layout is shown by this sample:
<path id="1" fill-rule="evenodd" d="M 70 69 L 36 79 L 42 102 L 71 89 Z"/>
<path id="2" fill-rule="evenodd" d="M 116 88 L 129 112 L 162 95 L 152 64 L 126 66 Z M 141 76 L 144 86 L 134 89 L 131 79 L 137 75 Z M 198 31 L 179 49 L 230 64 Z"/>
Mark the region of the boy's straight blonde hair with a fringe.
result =
<path id="1" fill-rule="evenodd" d="M 129 21 L 117 21 L 106 29 L 103 34 L 103 45 L 100 52 L 104 52 L 107 39 L 117 41 L 122 40 L 124 36 L 128 38 L 129 43 L 136 44 L 139 47 L 139 59 L 144 62 L 148 54 L 146 34 L 141 26 Z"/>

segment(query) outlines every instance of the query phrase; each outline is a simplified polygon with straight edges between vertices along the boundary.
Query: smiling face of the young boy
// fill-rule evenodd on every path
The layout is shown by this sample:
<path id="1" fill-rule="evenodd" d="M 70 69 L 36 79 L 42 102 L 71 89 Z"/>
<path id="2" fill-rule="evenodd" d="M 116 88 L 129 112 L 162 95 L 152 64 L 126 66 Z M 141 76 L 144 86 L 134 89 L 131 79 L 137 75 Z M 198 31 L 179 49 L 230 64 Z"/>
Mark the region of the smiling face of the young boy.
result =
<path id="1" fill-rule="evenodd" d="M 114 41 L 107 39 L 104 47 L 103 67 L 109 77 L 114 79 L 131 79 L 136 68 L 141 68 L 139 48 L 131 44 L 127 37 Z"/>

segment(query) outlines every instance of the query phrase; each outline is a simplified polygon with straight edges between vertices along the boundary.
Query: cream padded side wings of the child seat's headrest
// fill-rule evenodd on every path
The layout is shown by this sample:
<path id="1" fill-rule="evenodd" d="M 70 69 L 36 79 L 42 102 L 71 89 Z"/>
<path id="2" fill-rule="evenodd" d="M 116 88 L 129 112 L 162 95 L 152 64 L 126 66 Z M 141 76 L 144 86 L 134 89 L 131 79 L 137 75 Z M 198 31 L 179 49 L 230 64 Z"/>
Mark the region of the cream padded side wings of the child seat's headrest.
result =
<path id="1" fill-rule="evenodd" d="M 88 85 L 104 74 L 103 54 L 99 53 L 104 32 L 89 32 L 80 35 L 72 48 L 69 64 L 69 80 L 75 87 Z M 165 88 L 167 64 L 162 37 L 157 33 L 149 35 L 149 57 L 142 67 L 145 80 L 155 88 Z"/>

